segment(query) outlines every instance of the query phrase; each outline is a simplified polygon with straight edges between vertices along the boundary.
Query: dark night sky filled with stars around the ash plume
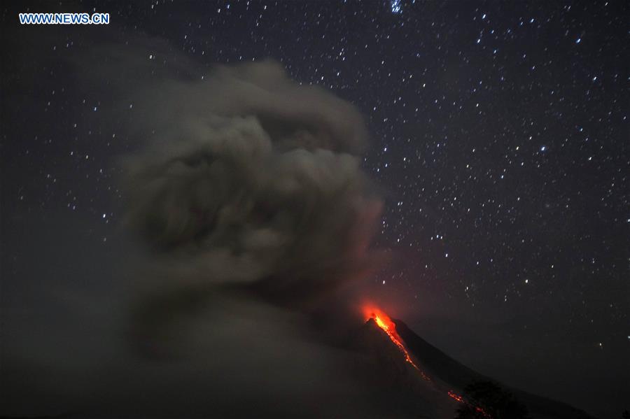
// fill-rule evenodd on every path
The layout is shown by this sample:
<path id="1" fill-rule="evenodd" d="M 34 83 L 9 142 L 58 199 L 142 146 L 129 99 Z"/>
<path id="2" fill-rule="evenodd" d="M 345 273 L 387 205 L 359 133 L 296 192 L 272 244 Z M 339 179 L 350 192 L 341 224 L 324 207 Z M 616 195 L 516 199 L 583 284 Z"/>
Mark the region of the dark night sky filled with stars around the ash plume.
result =
<path id="1" fill-rule="evenodd" d="M 111 24 L 17 22 L 92 10 Z M 620 416 L 629 17 L 626 1 L 3 5 L 4 291 L 39 289 L 22 278 L 42 275 L 106 290 L 99 266 L 120 258 L 116 156 L 134 145 L 99 113 L 125 75 L 75 83 L 64 64 L 74 50 L 159 38 L 169 49 L 141 57 L 155 69 L 146 77 L 182 55 L 202 68 L 271 57 L 365 115 L 363 167 L 385 203 L 376 246 L 391 255 L 370 280 L 394 314 L 485 374 Z"/>

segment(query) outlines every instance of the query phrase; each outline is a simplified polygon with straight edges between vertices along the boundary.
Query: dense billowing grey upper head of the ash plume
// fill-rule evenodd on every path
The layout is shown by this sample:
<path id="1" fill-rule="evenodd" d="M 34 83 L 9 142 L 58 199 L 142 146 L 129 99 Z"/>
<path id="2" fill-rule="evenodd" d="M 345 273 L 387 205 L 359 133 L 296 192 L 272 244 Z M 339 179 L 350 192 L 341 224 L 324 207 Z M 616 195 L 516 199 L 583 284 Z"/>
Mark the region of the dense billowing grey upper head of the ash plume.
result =
<path id="1" fill-rule="evenodd" d="M 370 266 L 379 204 L 354 154 L 366 132 L 353 106 L 274 62 L 144 94 L 156 134 L 126 159 L 126 220 L 176 271 L 172 285 L 255 284 L 295 302 Z"/>

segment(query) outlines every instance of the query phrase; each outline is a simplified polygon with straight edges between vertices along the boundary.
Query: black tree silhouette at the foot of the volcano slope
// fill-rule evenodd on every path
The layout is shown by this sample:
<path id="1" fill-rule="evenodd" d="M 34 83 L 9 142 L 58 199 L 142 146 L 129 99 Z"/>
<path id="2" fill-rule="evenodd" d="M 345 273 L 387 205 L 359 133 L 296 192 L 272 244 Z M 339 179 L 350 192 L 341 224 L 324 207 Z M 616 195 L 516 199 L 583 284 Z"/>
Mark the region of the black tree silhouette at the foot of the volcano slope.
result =
<path id="1" fill-rule="evenodd" d="M 491 381 L 474 381 L 464 389 L 455 419 L 528 419 L 527 409 L 512 393 Z"/>

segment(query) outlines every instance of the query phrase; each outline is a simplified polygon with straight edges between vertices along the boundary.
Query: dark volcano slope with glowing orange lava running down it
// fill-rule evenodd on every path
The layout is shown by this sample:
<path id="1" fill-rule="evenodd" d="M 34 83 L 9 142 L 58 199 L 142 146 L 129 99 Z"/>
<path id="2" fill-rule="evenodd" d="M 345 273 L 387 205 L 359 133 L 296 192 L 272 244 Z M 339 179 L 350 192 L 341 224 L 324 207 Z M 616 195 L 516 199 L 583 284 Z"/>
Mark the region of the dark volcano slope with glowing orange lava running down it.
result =
<path id="1" fill-rule="evenodd" d="M 568 404 L 479 374 L 422 339 L 402 320 L 391 319 L 382 311 L 367 310 L 366 317 L 360 341 L 372 359 L 371 379 L 386 383 L 387 397 L 393 397 L 400 409 L 395 416 L 454 418 L 458 409 L 465 408 L 468 416 L 461 418 L 593 418 Z M 523 415 L 512 416 L 491 403 L 470 397 L 470 385 L 474 388 L 475 383 L 477 388 L 487 386 L 509 395 L 525 408 Z"/>

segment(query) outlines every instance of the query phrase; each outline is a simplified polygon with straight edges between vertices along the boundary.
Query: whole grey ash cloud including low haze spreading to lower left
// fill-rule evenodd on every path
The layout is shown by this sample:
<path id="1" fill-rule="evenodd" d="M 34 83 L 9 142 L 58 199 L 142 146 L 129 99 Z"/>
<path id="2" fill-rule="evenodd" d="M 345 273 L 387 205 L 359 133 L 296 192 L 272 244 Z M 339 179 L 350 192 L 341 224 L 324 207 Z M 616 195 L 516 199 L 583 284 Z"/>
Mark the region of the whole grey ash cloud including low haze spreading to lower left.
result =
<path id="1" fill-rule="evenodd" d="M 383 416 L 354 374 L 364 357 L 337 339 L 360 325 L 348 295 L 381 260 L 358 111 L 272 61 L 208 72 L 151 38 L 86 45 L 62 68 L 78 78 L 68 94 L 101 98 L 82 125 L 133 150 L 116 160 L 123 232 L 107 259 L 73 243 L 98 277 L 55 276 L 46 305 L 13 294 L 12 313 L 40 315 L 8 324 L 0 414 Z"/>

